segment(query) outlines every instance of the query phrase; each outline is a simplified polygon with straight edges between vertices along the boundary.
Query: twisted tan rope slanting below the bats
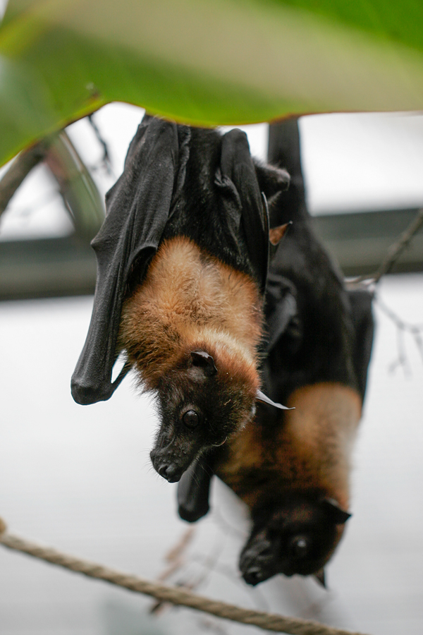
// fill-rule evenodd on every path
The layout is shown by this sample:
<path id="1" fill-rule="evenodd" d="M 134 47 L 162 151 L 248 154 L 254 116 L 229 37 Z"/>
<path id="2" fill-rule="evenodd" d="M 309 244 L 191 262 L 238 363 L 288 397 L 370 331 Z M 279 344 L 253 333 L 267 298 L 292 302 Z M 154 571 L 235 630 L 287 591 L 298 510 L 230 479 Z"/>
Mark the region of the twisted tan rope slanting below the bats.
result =
<path id="1" fill-rule="evenodd" d="M 276 631 L 277 633 L 286 633 L 288 635 L 363 635 L 345 631 L 343 629 L 335 629 L 318 624 L 305 619 L 294 619 L 291 617 L 283 617 L 272 613 L 262 611 L 251 611 L 240 608 L 238 606 L 210 600 L 201 595 L 185 591 L 182 588 L 166 586 L 157 582 L 151 582 L 103 567 L 101 564 L 80 560 L 56 549 L 43 547 L 28 540 L 13 536 L 6 532 L 6 524 L 0 518 L 0 543 L 8 549 L 13 549 L 31 555 L 39 560 L 45 560 L 58 567 L 70 569 L 76 573 L 83 574 L 89 578 L 104 580 L 116 586 L 122 586 L 129 591 L 135 593 L 143 593 L 151 595 L 157 600 L 169 602 L 174 605 L 186 606 L 197 611 L 216 615 L 223 619 L 231 619 L 233 622 L 242 624 L 251 624 L 267 631 Z"/>

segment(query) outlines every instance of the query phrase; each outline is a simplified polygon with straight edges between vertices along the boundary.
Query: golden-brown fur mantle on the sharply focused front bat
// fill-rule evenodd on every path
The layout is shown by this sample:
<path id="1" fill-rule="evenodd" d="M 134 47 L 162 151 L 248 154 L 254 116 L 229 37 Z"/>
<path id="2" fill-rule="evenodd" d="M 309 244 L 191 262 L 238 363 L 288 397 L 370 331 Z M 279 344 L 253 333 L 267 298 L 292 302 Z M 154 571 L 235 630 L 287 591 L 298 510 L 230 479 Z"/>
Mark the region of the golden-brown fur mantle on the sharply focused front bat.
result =
<path id="1" fill-rule="evenodd" d="M 147 387 L 202 346 L 236 375 L 239 359 L 245 368 L 257 367 L 262 322 L 255 282 L 179 237 L 161 245 L 125 301 L 118 345 Z"/>

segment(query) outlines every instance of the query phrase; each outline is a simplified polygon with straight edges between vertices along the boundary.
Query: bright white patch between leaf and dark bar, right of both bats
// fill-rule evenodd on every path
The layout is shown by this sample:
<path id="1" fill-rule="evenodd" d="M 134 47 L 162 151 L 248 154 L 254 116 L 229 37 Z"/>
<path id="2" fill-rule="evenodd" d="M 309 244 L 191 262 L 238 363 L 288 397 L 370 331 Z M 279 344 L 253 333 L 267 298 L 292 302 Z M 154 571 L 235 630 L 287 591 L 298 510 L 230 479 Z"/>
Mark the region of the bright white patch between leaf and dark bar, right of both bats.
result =
<path id="1" fill-rule="evenodd" d="M 421 113 L 305 116 L 300 136 L 310 214 L 422 207 Z"/>

